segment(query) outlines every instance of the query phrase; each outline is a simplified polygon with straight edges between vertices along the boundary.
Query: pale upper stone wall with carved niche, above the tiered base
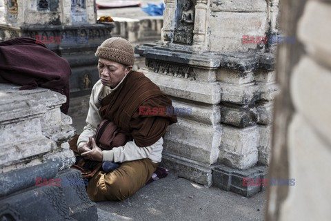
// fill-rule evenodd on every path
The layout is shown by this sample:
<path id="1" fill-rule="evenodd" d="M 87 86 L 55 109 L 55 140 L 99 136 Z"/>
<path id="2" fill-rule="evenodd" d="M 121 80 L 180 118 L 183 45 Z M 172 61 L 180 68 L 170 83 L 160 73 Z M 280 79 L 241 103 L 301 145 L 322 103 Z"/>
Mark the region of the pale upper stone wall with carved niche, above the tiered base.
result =
<path id="1" fill-rule="evenodd" d="M 242 44 L 242 41 L 243 35 L 255 38 L 279 35 L 279 1 L 197 0 L 190 1 L 193 8 L 184 9 L 188 1 L 165 1 L 163 45 L 197 52 L 275 50 L 272 44 Z M 183 21 L 185 15 L 194 15 L 194 22 Z"/>

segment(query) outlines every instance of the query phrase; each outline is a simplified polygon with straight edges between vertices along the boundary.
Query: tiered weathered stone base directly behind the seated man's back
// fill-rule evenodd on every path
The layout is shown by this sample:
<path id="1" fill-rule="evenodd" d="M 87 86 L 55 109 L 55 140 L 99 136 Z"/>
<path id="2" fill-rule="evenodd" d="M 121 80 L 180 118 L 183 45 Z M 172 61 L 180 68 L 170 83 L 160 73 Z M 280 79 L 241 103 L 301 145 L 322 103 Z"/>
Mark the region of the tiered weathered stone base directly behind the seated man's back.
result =
<path id="1" fill-rule="evenodd" d="M 235 173 L 239 180 L 253 178 L 257 168 L 268 165 L 272 101 L 277 93 L 273 55 L 197 53 L 162 44 L 137 46 L 136 52 L 146 58 L 146 68 L 139 71 L 170 96 L 173 106 L 192 108 L 191 115 L 178 115 L 178 123 L 168 128 L 163 166 L 206 186 L 245 196 L 260 191 L 231 183 L 231 177 L 213 176 L 219 173 L 215 166 L 230 166 L 234 173 L 227 173 L 235 182 Z"/>

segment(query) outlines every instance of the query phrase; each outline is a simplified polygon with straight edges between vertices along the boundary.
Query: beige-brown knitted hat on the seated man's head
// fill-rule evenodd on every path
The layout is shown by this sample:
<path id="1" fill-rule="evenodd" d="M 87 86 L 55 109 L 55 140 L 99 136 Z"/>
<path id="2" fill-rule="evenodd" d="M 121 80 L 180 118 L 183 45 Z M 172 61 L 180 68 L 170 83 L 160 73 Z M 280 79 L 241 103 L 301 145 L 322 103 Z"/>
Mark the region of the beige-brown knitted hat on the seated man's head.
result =
<path id="1" fill-rule="evenodd" d="M 121 64 L 134 64 L 133 47 L 129 41 L 121 37 L 111 37 L 103 41 L 101 46 L 98 47 L 97 52 L 95 52 L 95 56 Z"/>

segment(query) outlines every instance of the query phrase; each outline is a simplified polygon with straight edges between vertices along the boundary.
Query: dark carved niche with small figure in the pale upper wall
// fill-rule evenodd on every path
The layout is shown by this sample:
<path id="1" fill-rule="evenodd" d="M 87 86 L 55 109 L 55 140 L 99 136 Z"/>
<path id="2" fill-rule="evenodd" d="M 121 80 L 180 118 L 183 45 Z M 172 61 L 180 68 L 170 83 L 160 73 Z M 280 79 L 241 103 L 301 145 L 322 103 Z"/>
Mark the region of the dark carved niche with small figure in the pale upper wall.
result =
<path id="1" fill-rule="evenodd" d="M 174 43 L 192 45 L 195 2 L 184 0 L 179 2 L 179 12 L 177 12 L 177 27 L 174 30 Z"/>

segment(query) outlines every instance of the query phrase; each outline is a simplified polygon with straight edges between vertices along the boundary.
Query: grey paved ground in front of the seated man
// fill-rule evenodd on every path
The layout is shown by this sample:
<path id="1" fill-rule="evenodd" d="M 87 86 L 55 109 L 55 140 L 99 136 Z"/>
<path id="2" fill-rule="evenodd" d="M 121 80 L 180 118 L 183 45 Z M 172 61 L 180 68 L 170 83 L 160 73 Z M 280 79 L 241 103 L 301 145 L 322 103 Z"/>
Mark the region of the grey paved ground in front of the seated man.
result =
<path id="1" fill-rule="evenodd" d="M 157 180 L 123 202 L 98 202 L 99 220 L 264 220 L 264 194 L 252 198 L 205 188 L 174 174 Z"/>

